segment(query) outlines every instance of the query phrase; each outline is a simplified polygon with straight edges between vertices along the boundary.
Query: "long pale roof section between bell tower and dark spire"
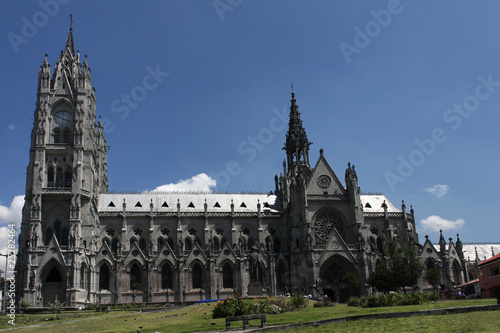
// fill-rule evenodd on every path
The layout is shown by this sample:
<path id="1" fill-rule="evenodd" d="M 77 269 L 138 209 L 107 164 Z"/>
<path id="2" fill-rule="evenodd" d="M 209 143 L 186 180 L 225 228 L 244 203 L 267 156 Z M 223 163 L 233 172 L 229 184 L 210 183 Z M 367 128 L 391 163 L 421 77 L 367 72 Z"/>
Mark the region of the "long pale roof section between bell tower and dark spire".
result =
<path id="1" fill-rule="evenodd" d="M 144 212 L 150 211 L 153 203 L 154 212 L 176 212 L 177 204 L 182 212 L 204 212 L 205 203 L 207 212 L 231 212 L 231 203 L 234 204 L 236 213 L 257 212 L 257 204 L 260 203 L 261 212 L 279 213 L 279 202 L 276 195 L 268 194 L 229 194 L 229 193 L 112 193 L 101 194 L 99 201 L 99 212 L 121 212 L 123 202 L 126 203 L 127 211 Z"/>

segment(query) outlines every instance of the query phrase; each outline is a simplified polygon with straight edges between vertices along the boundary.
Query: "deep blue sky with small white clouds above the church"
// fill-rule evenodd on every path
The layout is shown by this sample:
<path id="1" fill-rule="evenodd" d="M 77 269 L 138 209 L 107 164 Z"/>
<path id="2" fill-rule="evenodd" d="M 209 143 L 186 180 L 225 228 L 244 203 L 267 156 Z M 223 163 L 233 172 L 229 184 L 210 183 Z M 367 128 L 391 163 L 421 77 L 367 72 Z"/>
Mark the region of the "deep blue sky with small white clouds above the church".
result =
<path id="1" fill-rule="evenodd" d="M 313 165 L 323 148 L 340 179 L 351 162 L 363 192 L 413 205 L 422 243 L 440 228 L 500 241 L 498 1 L 10 0 L 0 13 L 0 226 L 20 221 L 38 71 L 73 13 L 110 190 L 274 189 L 293 83 Z"/>

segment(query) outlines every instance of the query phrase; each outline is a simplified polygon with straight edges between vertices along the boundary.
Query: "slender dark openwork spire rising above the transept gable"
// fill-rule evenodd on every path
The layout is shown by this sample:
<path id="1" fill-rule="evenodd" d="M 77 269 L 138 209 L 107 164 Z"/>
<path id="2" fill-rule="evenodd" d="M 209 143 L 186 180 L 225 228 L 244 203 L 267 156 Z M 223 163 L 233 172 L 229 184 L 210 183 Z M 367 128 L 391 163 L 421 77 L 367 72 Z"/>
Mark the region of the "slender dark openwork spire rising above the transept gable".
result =
<path id="1" fill-rule="evenodd" d="M 309 145 L 307 134 L 300 120 L 299 107 L 295 99 L 295 92 L 292 84 L 292 100 L 290 106 L 290 120 L 288 122 L 288 132 L 286 133 L 285 147 L 288 167 L 294 164 L 305 164 L 309 166 Z"/>

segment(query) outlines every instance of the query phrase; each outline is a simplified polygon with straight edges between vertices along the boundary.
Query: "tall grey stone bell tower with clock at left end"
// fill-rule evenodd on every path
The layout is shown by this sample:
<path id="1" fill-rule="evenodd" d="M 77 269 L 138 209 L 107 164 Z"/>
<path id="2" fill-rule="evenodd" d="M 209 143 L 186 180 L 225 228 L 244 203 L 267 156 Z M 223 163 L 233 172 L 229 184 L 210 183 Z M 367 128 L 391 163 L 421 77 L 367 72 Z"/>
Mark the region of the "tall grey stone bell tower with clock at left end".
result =
<path id="1" fill-rule="evenodd" d="M 46 306 L 56 296 L 66 306 L 89 298 L 83 287 L 99 246 L 99 194 L 108 189 L 104 130 L 72 25 L 53 73 L 45 55 L 38 74 L 16 263 L 17 297 L 32 306 Z"/>

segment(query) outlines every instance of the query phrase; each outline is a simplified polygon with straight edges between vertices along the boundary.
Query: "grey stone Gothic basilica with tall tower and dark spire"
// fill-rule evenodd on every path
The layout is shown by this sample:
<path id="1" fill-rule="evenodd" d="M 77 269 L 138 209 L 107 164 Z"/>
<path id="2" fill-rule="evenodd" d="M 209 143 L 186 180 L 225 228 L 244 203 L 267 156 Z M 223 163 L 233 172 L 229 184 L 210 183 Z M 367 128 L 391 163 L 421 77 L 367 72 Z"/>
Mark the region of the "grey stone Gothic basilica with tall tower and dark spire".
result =
<path id="1" fill-rule="evenodd" d="M 346 301 L 372 291 L 367 278 L 386 263 L 390 239 L 440 269 L 444 287 L 467 281 L 460 240 L 421 245 L 411 207 L 361 194 L 354 165 L 339 178 L 322 150 L 310 161 L 294 92 L 290 103 L 286 156 L 271 193 L 110 193 L 90 67 L 70 28 L 53 71 L 46 56 L 38 74 L 17 297 L 33 307 L 56 297 L 78 307 L 235 293 Z M 359 283 L 346 282 L 347 274 Z"/>

